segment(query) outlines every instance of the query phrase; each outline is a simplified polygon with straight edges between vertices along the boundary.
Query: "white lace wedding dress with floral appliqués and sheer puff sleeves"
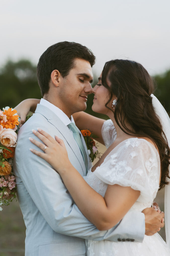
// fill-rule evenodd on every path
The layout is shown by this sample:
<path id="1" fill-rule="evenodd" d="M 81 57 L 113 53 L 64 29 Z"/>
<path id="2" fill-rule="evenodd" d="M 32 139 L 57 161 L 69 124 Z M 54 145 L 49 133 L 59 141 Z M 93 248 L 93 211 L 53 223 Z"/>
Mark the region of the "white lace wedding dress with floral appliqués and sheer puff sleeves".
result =
<path id="1" fill-rule="evenodd" d="M 116 131 L 111 120 L 104 122 L 102 136 L 107 147 L 115 140 Z M 144 139 L 129 138 L 117 145 L 94 172 L 90 169 L 84 179 L 103 197 L 108 184 L 140 190 L 140 196 L 131 209 L 142 211 L 151 207 L 159 189 L 159 177 L 160 158 L 155 147 Z M 170 255 L 158 233 L 145 235 L 142 243 L 86 240 L 86 246 L 87 256 Z"/>

